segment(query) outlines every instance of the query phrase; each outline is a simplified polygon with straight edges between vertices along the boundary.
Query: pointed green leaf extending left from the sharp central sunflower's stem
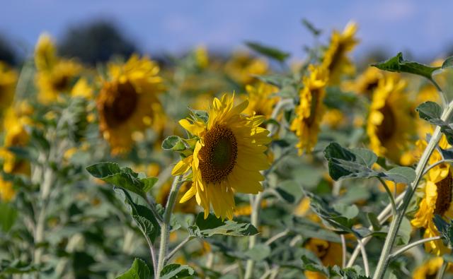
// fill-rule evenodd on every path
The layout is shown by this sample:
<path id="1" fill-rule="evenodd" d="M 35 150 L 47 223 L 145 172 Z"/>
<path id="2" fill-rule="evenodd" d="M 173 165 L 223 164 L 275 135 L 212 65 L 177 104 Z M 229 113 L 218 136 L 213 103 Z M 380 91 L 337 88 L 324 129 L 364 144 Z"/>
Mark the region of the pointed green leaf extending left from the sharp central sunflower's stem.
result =
<path id="1" fill-rule="evenodd" d="M 120 167 L 115 162 L 99 162 L 86 167 L 86 170 L 98 179 L 127 189 L 147 199 L 147 191 L 157 182 L 154 177 L 140 179 L 139 174 L 133 172 L 129 167 Z"/>

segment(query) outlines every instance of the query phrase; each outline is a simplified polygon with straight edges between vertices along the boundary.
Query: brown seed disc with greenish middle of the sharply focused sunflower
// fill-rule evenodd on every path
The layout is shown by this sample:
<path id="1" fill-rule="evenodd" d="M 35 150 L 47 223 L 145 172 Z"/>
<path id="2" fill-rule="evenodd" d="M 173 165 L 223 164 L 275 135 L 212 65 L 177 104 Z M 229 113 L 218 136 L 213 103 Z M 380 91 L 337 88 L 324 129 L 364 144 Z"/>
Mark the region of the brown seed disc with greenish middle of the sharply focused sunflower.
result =
<path id="1" fill-rule="evenodd" d="M 225 125 L 216 125 L 205 135 L 205 146 L 200 149 L 200 172 L 207 183 L 222 182 L 234 168 L 238 144 L 233 131 Z"/>

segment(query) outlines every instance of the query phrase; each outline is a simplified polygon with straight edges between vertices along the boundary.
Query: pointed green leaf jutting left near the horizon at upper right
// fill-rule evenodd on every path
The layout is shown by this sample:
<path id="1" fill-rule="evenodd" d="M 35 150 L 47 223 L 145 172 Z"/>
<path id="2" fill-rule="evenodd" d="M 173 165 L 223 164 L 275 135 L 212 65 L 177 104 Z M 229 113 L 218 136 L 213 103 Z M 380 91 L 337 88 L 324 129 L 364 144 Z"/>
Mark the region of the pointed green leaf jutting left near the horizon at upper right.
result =
<path id="1" fill-rule="evenodd" d="M 440 69 L 440 67 L 431 67 L 417 62 L 406 61 L 403 59 L 403 54 L 401 52 L 396 54 L 396 57 L 392 57 L 391 59 L 384 62 L 372 64 L 372 66 L 375 66 L 378 69 L 384 71 L 394 71 L 398 73 L 414 73 L 415 75 L 418 76 L 424 76 L 429 80 L 432 79 L 432 73 L 437 69 Z"/>

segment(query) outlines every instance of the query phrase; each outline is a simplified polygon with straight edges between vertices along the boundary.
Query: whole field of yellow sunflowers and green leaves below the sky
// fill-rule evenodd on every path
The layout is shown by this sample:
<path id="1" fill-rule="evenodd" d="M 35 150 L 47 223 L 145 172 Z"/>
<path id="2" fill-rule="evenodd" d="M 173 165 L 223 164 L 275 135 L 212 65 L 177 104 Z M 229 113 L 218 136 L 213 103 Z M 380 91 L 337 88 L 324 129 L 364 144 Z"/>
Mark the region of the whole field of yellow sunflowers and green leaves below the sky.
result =
<path id="1" fill-rule="evenodd" d="M 0 278 L 453 278 L 453 57 L 0 61 Z"/>

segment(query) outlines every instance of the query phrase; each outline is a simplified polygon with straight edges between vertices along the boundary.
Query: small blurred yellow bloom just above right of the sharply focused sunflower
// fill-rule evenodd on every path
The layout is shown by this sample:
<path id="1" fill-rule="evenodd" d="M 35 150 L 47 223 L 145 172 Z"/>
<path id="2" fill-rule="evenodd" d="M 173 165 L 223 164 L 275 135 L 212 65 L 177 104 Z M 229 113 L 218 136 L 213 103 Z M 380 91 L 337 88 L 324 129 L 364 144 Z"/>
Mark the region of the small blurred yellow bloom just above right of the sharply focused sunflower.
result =
<path id="1" fill-rule="evenodd" d="M 255 86 L 246 85 L 246 91 L 248 107 L 243 112 L 248 115 L 263 115 L 265 119 L 270 119 L 275 104 L 280 100 L 280 97 L 273 96 L 273 93 L 277 93 L 278 88 L 260 82 Z"/>

